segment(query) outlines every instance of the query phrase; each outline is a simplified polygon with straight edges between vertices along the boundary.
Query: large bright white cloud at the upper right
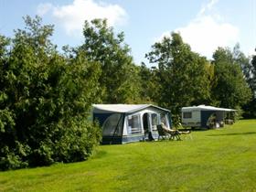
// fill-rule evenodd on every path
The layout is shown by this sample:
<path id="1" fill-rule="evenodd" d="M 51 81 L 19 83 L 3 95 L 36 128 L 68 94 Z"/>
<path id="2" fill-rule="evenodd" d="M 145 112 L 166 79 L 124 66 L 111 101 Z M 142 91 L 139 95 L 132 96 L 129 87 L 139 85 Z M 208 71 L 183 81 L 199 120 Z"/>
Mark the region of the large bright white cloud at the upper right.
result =
<path id="1" fill-rule="evenodd" d="M 233 47 L 238 41 L 240 30 L 217 14 L 207 14 L 212 11 L 218 0 L 211 0 L 208 5 L 202 6 L 196 18 L 192 19 L 186 27 L 176 28 L 183 40 L 193 51 L 211 59 L 218 47 Z M 161 37 L 169 35 L 165 32 Z"/>

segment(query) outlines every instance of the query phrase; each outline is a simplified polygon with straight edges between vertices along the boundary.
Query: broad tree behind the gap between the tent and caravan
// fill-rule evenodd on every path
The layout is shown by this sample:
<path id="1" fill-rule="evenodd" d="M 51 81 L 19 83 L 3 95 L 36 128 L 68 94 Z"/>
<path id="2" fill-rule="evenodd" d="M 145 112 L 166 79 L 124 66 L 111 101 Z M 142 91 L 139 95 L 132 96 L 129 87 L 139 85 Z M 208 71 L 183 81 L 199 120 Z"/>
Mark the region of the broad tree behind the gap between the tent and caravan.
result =
<path id="1" fill-rule="evenodd" d="M 146 58 L 158 65 L 159 105 L 179 115 L 181 107 L 210 101 L 212 68 L 207 59 L 192 52 L 177 33 L 156 42 L 152 49 Z"/>

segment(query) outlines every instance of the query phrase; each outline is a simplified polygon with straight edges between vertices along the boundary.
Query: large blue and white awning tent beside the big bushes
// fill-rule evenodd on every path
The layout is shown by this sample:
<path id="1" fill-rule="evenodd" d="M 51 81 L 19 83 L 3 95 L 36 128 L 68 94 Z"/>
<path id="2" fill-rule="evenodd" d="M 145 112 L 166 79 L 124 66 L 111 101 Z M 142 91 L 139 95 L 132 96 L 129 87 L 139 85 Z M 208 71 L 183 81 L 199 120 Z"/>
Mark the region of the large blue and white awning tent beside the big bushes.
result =
<path id="1" fill-rule="evenodd" d="M 157 124 L 171 127 L 170 111 L 152 104 L 94 104 L 94 121 L 102 128 L 102 144 L 157 139 Z"/>

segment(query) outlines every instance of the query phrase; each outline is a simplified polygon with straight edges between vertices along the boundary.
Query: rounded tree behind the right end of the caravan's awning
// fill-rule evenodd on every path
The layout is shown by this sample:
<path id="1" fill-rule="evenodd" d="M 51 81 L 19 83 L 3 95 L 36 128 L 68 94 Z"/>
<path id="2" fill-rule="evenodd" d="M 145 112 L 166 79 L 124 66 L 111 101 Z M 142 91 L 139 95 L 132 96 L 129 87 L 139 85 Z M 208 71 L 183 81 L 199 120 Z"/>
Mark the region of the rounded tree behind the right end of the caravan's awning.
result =
<path id="1" fill-rule="evenodd" d="M 240 109 L 251 99 L 251 90 L 243 77 L 240 64 L 229 48 L 218 48 L 213 54 L 216 85 L 213 97 L 220 107 Z"/>

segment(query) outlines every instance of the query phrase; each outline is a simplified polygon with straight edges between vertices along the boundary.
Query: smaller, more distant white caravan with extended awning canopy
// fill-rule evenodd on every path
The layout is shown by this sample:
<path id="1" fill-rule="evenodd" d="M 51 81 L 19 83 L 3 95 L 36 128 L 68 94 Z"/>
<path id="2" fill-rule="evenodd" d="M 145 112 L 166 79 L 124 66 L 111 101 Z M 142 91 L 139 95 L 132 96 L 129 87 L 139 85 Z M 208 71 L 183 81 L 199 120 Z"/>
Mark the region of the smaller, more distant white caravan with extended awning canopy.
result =
<path id="1" fill-rule="evenodd" d="M 211 123 L 214 123 L 212 126 L 218 128 L 224 124 L 227 114 L 235 111 L 206 105 L 183 107 L 182 125 L 192 128 L 211 128 Z"/>

